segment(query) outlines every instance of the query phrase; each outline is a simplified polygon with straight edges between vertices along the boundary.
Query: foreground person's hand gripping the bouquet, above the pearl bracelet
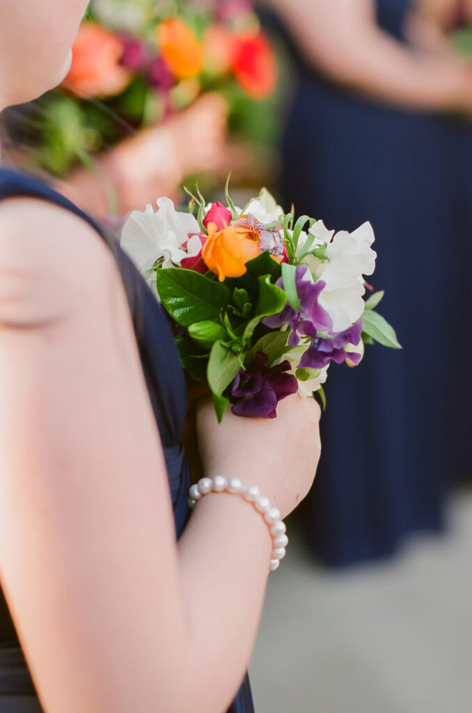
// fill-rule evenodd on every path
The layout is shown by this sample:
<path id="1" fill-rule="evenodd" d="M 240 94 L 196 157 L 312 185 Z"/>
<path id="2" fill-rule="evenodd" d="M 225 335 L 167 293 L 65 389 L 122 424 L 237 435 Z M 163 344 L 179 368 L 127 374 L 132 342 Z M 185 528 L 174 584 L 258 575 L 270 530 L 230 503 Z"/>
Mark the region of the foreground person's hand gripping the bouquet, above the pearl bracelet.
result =
<path id="1" fill-rule="evenodd" d="M 288 515 L 312 487 L 321 453 L 319 417 L 314 399 L 288 396 L 277 419 L 245 419 L 227 412 L 217 423 L 212 401 L 197 407 L 197 436 L 205 476 L 240 478 Z"/>

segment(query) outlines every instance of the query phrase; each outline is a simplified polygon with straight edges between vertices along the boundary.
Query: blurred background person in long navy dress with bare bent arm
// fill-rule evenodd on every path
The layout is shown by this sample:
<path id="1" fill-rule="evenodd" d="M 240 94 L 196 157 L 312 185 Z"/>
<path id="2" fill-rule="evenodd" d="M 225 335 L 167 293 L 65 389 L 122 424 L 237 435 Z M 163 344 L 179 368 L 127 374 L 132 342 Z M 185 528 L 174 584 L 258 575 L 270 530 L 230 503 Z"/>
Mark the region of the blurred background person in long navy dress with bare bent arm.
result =
<path id="1" fill-rule="evenodd" d="M 284 202 L 329 229 L 371 221 L 404 347 L 372 349 L 327 388 L 306 533 L 325 563 L 347 565 L 441 530 L 448 484 L 471 475 L 472 64 L 447 35 L 471 4 L 266 4 L 296 64 Z"/>

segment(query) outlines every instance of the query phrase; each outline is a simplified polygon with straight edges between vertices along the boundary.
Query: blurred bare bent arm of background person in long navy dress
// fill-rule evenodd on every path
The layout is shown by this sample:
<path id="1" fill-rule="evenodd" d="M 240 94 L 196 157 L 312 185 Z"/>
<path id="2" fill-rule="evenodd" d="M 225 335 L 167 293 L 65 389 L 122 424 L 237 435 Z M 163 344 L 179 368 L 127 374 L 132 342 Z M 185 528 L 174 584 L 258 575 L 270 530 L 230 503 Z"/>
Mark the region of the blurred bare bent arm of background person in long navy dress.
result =
<path id="1" fill-rule="evenodd" d="M 419 111 L 472 111 L 472 68 L 402 46 L 376 25 L 374 0 L 266 0 L 307 61 L 349 90 Z M 443 49 L 443 48 L 442 48 Z"/>

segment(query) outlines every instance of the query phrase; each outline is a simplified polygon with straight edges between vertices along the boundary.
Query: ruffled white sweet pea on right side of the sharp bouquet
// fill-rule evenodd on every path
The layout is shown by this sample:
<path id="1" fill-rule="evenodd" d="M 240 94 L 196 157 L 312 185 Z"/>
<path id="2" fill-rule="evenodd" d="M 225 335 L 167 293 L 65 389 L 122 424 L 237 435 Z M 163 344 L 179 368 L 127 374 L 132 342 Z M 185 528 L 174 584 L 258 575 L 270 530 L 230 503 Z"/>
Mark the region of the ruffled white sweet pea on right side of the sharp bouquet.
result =
<path id="1" fill-rule="evenodd" d="M 324 262 L 318 275 L 326 287 L 318 302 L 332 318 L 334 332 L 348 329 L 364 312 L 363 275 L 375 270 L 376 252 L 371 248 L 374 240 L 374 230 L 366 222 L 352 233 L 337 232 L 329 242 L 325 252 L 329 262 Z"/>

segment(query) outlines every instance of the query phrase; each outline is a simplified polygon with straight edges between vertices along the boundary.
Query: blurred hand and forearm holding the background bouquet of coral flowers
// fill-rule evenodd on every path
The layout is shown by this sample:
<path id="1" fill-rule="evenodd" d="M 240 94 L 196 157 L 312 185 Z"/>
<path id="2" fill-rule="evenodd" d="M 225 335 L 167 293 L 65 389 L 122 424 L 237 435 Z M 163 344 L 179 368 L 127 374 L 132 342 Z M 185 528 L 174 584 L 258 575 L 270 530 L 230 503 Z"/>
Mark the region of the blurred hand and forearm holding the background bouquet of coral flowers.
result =
<path id="1" fill-rule="evenodd" d="M 56 188 L 83 210 L 102 218 L 110 212 L 107 184 L 116 195 L 119 215 L 143 210 L 160 195 L 177 198 L 186 175 L 219 167 L 226 118 L 225 101 L 207 94 L 182 113 L 111 148 L 96 159 L 96 174 L 77 168 Z"/>

